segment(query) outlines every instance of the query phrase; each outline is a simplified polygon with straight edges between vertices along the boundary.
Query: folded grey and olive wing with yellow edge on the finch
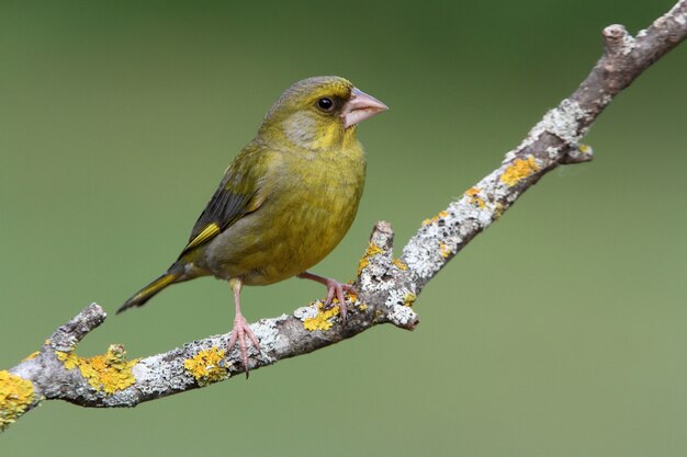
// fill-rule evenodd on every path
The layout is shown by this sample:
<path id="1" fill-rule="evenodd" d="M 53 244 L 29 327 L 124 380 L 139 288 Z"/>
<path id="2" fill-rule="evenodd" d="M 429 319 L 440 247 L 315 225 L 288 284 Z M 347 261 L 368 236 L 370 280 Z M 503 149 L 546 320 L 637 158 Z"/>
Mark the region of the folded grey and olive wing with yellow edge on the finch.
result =
<path id="1" fill-rule="evenodd" d="M 236 157 L 193 226 L 189 243 L 179 258 L 207 243 L 262 205 L 271 187 L 267 178 L 274 159 L 273 155 L 250 146 Z"/>

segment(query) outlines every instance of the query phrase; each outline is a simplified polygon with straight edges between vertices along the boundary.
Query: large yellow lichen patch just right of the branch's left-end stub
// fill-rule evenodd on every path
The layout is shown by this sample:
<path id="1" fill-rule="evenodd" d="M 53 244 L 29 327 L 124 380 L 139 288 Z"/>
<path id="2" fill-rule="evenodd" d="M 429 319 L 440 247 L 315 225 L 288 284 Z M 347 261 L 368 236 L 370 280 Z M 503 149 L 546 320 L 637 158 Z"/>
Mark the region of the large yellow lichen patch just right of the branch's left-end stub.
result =
<path id="1" fill-rule="evenodd" d="M 81 376 L 98 391 L 114 393 L 136 382 L 132 368 L 138 361 L 125 359 L 126 351 L 120 344 L 111 344 L 106 353 L 88 358 L 74 352 L 56 351 L 55 354 L 65 363 L 65 368 L 79 368 Z"/>

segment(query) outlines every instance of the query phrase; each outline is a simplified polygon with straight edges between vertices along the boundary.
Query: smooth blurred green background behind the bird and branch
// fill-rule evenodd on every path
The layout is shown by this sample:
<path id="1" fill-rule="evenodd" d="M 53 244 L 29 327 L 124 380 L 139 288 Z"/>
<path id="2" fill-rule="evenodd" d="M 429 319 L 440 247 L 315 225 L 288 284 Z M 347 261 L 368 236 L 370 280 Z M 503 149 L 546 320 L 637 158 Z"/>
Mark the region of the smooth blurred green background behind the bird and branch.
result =
<path id="1" fill-rule="evenodd" d="M 340 75 L 392 110 L 360 128 L 365 195 L 315 271 L 354 275 L 500 163 L 599 57 L 673 0 L 0 2 L 0 367 L 176 258 L 224 168 L 292 82 Z M 415 332 L 373 329 L 132 410 L 47 402 L 2 456 L 684 456 L 687 46 L 615 100 L 561 168 L 432 281 Z M 255 321 L 323 296 L 248 288 Z M 229 330 L 228 285 L 111 316 L 82 355 Z"/>

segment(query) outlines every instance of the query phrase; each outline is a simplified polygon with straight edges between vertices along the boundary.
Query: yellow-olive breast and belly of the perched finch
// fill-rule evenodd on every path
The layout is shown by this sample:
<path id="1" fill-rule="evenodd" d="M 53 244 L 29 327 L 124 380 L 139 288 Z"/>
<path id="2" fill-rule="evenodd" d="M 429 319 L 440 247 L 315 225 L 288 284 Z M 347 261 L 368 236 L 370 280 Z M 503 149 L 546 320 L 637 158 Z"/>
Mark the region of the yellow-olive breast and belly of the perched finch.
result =
<path id="1" fill-rule="evenodd" d="M 263 205 L 209 247 L 209 264 L 223 278 L 271 284 L 322 261 L 350 228 L 364 186 L 364 152 L 353 148 L 285 153 L 269 176 Z"/>

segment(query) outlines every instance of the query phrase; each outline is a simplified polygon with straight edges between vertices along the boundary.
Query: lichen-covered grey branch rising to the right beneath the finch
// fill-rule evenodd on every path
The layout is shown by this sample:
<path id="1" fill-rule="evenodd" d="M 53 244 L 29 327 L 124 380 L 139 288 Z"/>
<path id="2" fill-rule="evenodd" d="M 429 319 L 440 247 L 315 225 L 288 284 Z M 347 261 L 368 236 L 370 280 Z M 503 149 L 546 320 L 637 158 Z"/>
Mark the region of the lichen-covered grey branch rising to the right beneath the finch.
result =
<path id="1" fill-rule="evenodd" d="M 579 145 L 579 139 L 613 96 L 685 39 L 687 0 L 679 0 L 637 37 L 622 25 L 609 25 L 602 35 L 604 54 L 577 90 L 549 111 L 496 170 L 423 221 L 399 259 L 393 258 L 391 226 L 375 225 L 359 265 L 359 294 L 347 297 L 351 312 L 346 324 L 338 306 L 324 310 L 322 301 L 292 315 L 261 319 L 251 325 L 260 339 L 260 353 L 250 347 L 250 369 L 316 351 L 380 323 L 413 330 L 419 320 L 410 306 L 447 262 L 543 174 L 560 164 L 592 160 L 592 149 Z M 100 306 L 87 307 L 40 351 L 10 370 L 0 370 L 0 430 L 45 399 L 83 407 L 134 407 L 243 372 L 237 351 L 226 351 L 228 334 L 136 361 L 125 359 L 121 345 L 90 358 L 76 355 L 78 342 L 105 317 Z"/>

